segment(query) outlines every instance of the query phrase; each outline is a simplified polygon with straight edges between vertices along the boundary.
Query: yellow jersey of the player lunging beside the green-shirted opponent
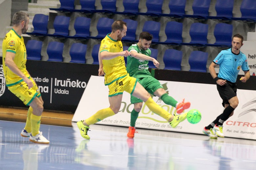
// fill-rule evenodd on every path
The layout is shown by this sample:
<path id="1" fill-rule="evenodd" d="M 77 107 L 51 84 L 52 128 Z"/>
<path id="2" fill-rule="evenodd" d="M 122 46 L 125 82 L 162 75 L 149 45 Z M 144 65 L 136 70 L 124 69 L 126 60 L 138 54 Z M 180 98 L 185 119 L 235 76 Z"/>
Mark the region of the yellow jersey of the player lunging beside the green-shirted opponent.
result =
<path id="1" fill-rule="evenodd" d="M 110 33 L 109 33 L 110 34 Z M 99 50 L 112 53 L 122 52 L 123 44 L 121 41 L 113 40 L 109 34 L 101 41 Z M 105 85 L 109 85 L 114 81 L 127 75 L 125 61 L 123 56 L 114 59 L 102 59 L 103 71 L 105 73 Z"/>

